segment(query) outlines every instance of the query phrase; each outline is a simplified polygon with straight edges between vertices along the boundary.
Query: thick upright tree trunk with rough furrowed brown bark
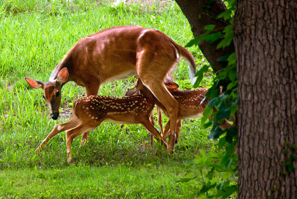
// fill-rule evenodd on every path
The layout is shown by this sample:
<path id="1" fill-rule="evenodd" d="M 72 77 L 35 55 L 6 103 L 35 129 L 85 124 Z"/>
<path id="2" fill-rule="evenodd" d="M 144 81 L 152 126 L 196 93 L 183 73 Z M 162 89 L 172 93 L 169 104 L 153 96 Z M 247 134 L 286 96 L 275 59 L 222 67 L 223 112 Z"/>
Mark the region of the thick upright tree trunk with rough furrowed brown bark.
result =
<path id="1" fill-rule="evenodd" d="M 233 28 L 238 198 L 296 199 L 297 3 L 237 0 Z"/>

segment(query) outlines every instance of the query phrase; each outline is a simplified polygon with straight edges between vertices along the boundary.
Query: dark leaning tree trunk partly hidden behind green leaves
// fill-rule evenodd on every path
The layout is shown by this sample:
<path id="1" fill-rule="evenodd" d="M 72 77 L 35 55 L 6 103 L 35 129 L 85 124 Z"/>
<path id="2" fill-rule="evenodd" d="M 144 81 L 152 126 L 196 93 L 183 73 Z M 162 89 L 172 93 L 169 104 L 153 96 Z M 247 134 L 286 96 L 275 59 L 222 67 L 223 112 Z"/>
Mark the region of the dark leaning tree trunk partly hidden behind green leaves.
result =
<path id="1" fill-rule="evenodd" d="M 221 0 L 212 2 L 209 7 L 202 7 L 202 5 L 208 5 L 208 0 L 176 0 L 176 2 L 187 17 L 195 38 L 205 32 L 204 26 L 206 25 L 214 24 L 216 30 L 214 32 L 220 31 L 221 33 L 229 25 L 222 19 L 216 19 L 220 13 L 226 11 L 226 6 Z M 235 51 L 233 43 L 225 49 L 216 49 L 218 42 L 209 44 L 201 40 L 198 45 L 214 72 L 225 68 L 227 65 L 226 61 L 219 62 L 217 59 Z"/>

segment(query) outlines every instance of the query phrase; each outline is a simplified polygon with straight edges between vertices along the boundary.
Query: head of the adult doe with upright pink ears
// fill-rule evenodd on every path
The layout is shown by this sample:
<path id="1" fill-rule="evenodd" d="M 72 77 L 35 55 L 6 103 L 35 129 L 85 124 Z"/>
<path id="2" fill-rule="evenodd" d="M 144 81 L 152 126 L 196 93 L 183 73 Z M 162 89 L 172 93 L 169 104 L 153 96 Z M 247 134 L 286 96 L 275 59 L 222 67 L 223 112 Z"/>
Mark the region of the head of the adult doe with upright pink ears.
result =
<path id="1" fill-rule="evenodd" d="M 57 78 L 49 82 L 41 82 L 39 80 L 25 77 L 25 80 L 32 88 L 44 90 L 43 98 L 49 104 L 51 119 L 58 119 L 59 107 L 61 103 L 62 83 L 67 81 L 68 76 L 69 74 L 67 68 L 63 68 L 59 71 Z"/>

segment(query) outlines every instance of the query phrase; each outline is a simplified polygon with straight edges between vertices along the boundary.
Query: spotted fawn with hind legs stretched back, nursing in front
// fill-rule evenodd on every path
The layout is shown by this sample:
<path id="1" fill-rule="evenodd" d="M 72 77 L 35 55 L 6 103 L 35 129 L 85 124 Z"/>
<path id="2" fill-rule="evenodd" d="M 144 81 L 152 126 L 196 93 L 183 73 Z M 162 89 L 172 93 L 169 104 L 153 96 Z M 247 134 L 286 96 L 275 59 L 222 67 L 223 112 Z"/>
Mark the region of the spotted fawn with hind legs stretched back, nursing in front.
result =
<path id="1" fill-rule="evenodd" d="M 112 98 L 106 96 L 89 96 L 76 100 L 73 103 L 72 119 L 57 124 L 40 144 L 36 151 L 40 151 L 56 134 L 66 131 L 67 160 L 71 161 L 71 144 L 75 137 L 89 130 L 95 129 L 102 121 L 125 124 L 142 124 L 165 147 L 166 142 L 149 121 L 154 107 L 154 96 L 143 86 L 138 84 L 140 95 L 126 98 Z"/>

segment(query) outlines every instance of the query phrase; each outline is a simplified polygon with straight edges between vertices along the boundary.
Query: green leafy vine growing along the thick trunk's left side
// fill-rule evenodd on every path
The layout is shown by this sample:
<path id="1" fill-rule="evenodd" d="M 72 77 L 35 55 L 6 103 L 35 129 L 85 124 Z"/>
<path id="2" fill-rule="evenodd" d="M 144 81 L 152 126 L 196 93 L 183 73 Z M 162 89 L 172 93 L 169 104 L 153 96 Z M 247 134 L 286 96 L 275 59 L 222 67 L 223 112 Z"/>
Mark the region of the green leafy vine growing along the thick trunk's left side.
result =
<path id="1" fill-rule="evenodd" d="M 213 0 L 209 0 L 211 3 Z M 217 49 L 229 46 L 233 39 L 233 16 L 235 11 L 235 0 L 225 0 L 227 10 L 218 15 L 218 18 L 229 20 L 230 24 L 224 30 L 217 32 L 215 25 L 209 24 L 204 27 L 204 34 L 191 40 L 186 47 L 198 45 L 202 39 L 208 43 L 219 41 Z M 217 151 L 209 152 L 200 150 L 200 154 L 188 164 L 188 166 L 204 166 L 209 169 L 206 175 L 207 180 L 202 182 L 203 186 L 196 193 L 199 198 L 227 198 L 238 190 L 237 185 L 237 160 L 236 153 L 238 128 L 234 121 L 231 128 L 222 130 L 219 128 L 226 120 L 236 118 L 238 109 L 237 97 L 237 68 L 235 52 L 227 54 L 218 61 L 228 61 L 226 68 L 218 71 L 213 79 L 213 85 L 205 95 L 205 98 L 211 99 L 206 105 L 201 122 L 204 128 L 212 126 L 209 139 L 218 139 Z M 203 79 L 203 74 L 207 72 L 209 66 L 203 65 L 196 73 L 197 81 L 194 87 L 198 87 Z M 214 111 L 216 110 L 216 111 Z M 211 118 L 210 118 L 211 117 Z M 210 118 L 210 119 L 208 119 Z M 207 122 L 206 122 L 207 121 Z M 222 182 L 212 183 L 211 180 L 215 175 L 221 173 Z M 201 174 L 202 175 L 202 174 Z M 186 182 L 196 179 L 197 175 L 190 175 L 189 178 L 181 179 L 180 182 Z"/>

